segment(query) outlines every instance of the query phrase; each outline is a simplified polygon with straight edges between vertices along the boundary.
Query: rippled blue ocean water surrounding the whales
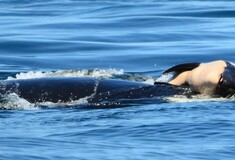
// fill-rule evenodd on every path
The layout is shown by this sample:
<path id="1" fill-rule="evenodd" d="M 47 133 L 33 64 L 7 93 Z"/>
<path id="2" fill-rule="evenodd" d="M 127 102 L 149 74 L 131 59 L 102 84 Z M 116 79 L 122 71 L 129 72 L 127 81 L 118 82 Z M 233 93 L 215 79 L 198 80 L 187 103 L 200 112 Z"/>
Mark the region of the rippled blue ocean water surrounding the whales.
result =
<path id="1" fill-rule="evenodd" d="M 179 63 L 234 62 L 234 40 L 232 0 L 1 0 L 0 78 L 152 83 Z M 6 98 L 1 160 L 235 157 L 234 97 L 167 97 L 107 109 Z"/>

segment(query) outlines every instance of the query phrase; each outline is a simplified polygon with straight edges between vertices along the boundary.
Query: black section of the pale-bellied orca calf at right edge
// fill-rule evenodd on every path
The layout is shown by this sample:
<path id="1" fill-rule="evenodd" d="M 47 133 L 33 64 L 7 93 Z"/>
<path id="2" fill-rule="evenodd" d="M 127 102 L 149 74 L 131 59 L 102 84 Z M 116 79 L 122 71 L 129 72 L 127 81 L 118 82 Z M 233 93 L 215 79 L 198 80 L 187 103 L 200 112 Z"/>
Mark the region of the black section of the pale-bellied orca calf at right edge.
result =
<path id="1" fill-rule="evenodd" d="M 235 94 L 235 64 L 226 62 L 224 72 L 221 74 L 216 93 L 224 97 Z"/>

